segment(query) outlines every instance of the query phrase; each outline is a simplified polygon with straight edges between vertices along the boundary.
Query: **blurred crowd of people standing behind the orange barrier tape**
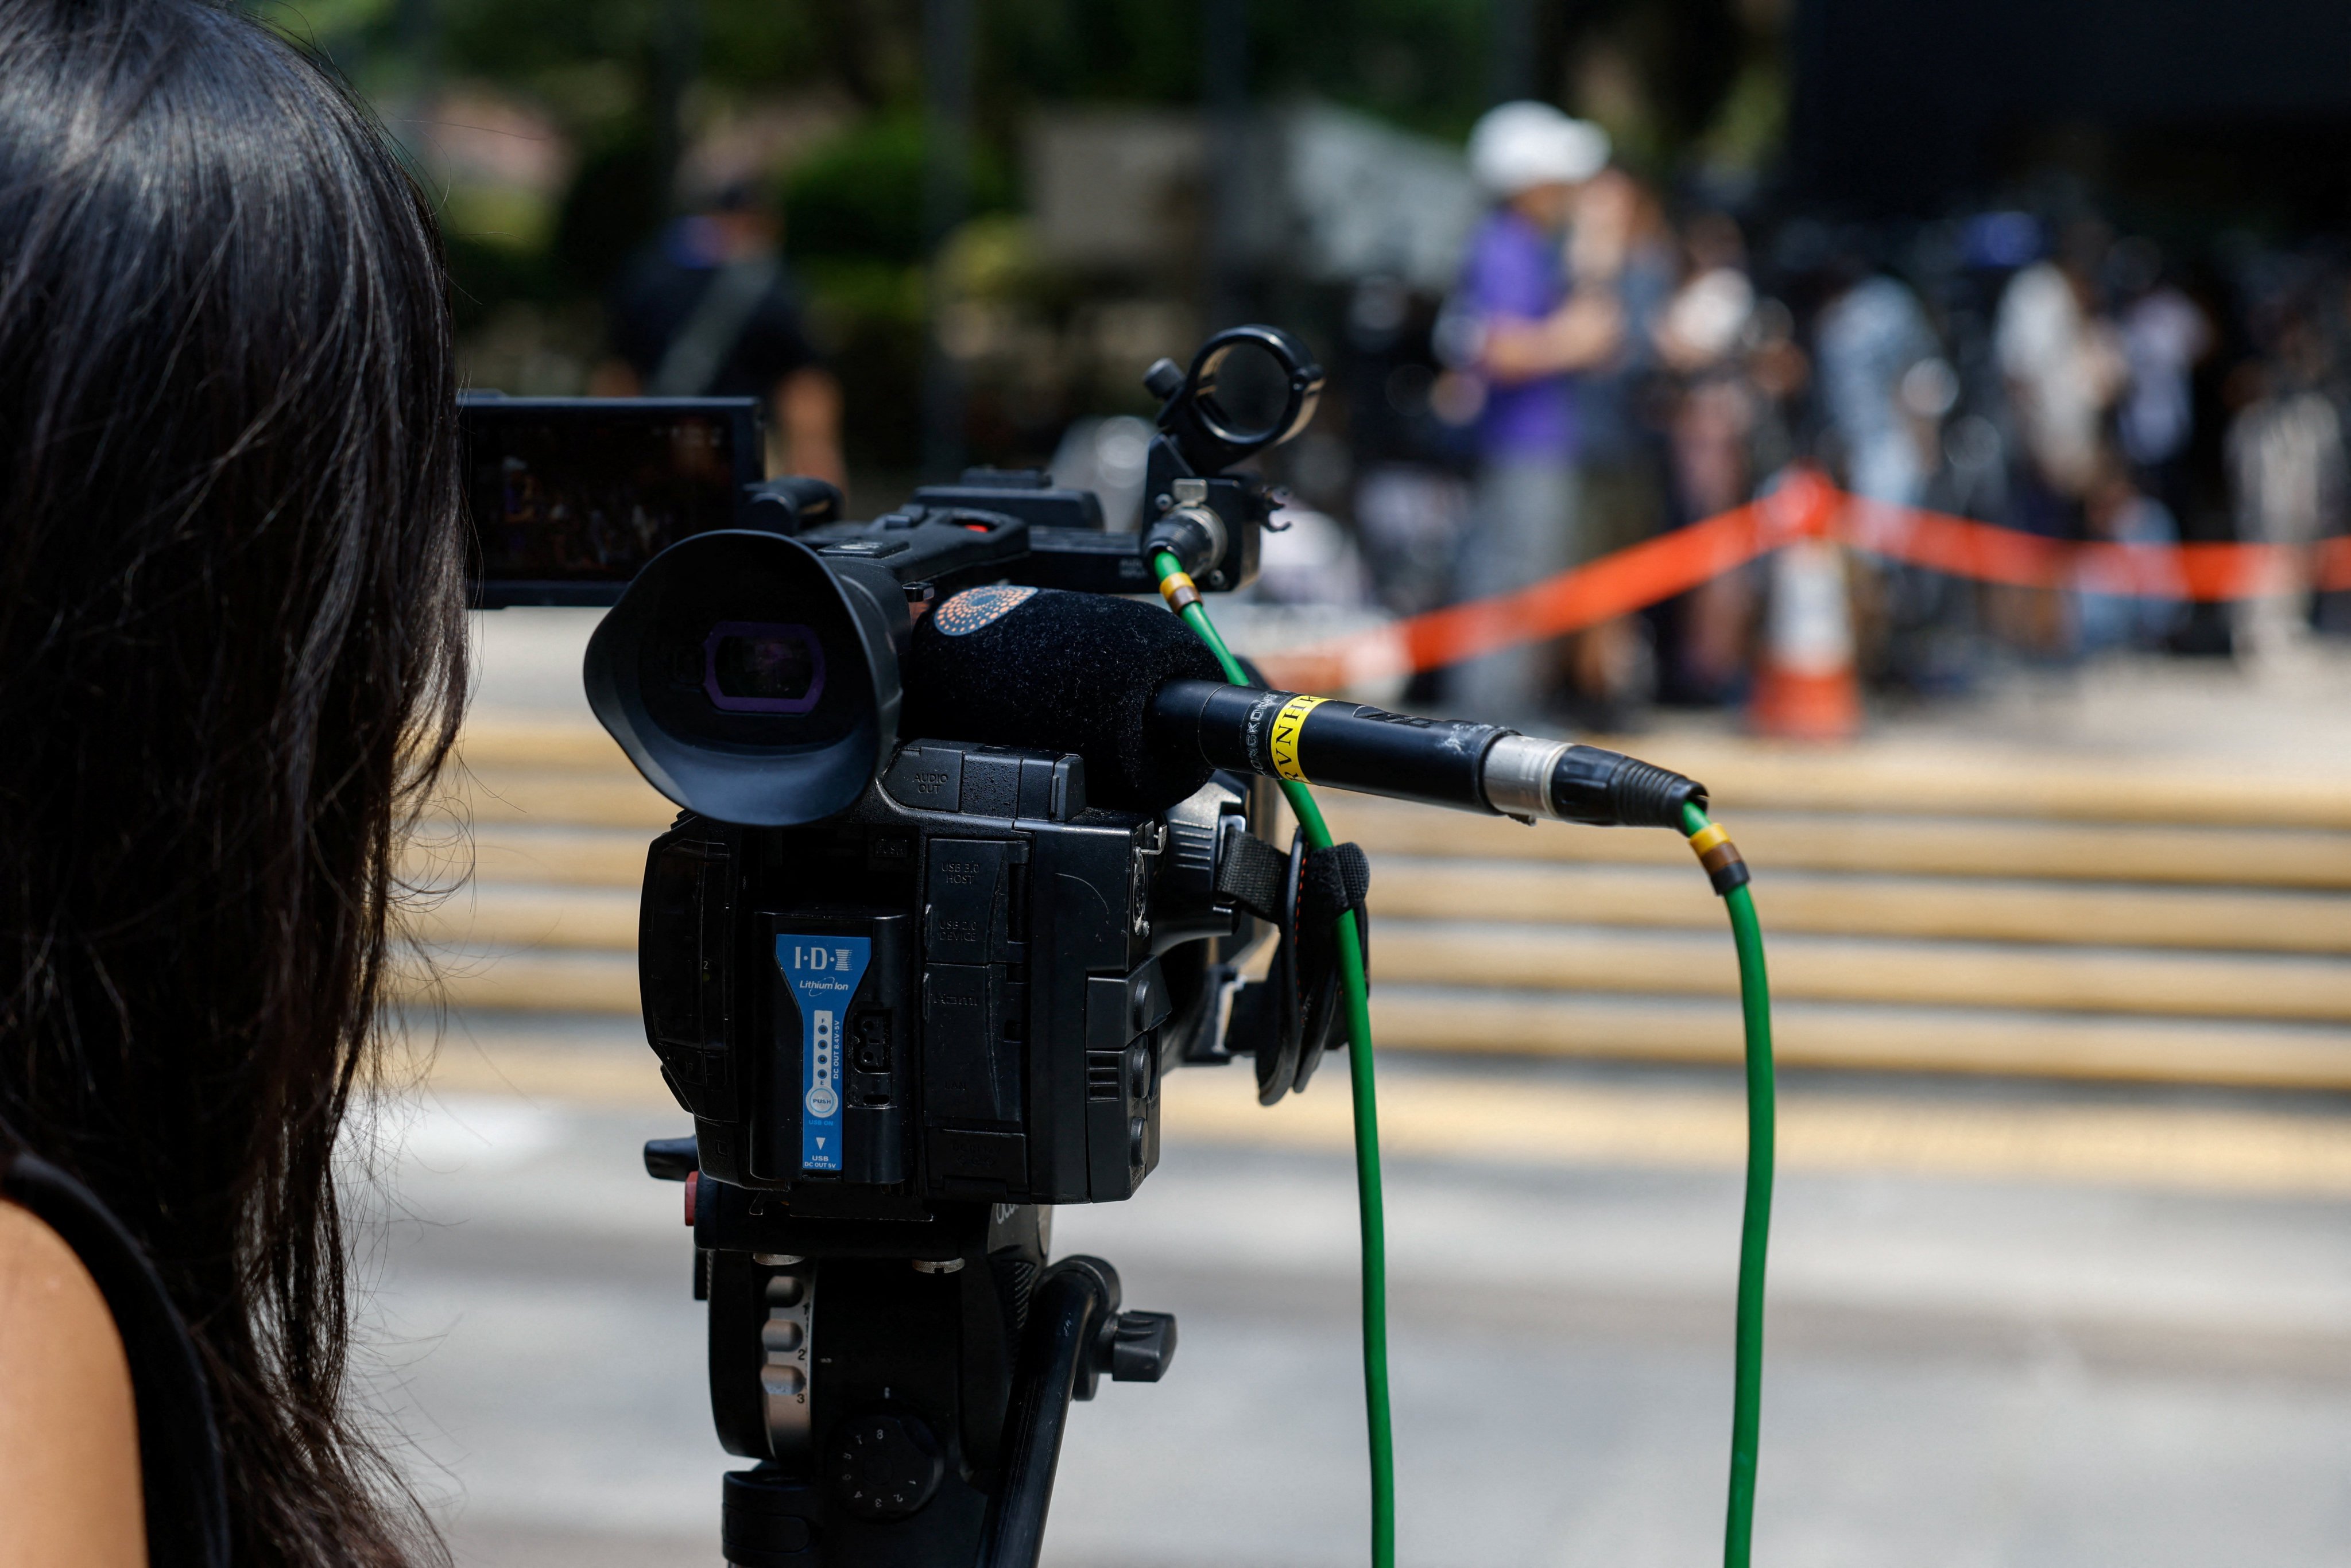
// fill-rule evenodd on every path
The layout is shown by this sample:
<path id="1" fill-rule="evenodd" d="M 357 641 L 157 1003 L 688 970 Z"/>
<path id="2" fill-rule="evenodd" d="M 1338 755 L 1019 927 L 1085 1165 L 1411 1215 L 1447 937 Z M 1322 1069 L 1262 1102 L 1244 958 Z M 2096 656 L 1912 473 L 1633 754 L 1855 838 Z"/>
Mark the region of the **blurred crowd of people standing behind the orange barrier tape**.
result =
<path id="1" fill-rule="evenodd" d="M 2342 254 L 2236 237 L 2168 249 L 2078 197 L 2055 214 L 1751 235 L 1728 212 L 1672 207 L 1610 162 L 1606 134 L 1538 103 L 1493 110 L 1469 162 L 1493 205 L 1458 287 L 1354 289 L 1338 355 L 1347 433 L 1324 437 L 1345 451 L 1293 454 L 1295 487 L 1352 524 L 1389 611 L 1502 592 L 1712 517 L 1799 461 L 1869 501 L 2057 541 L 2297 545 L 2344 527 Z M 1345 484 L 1317 494 L 1317 463 Z M 2142 581 L 2052 592 L 1853 552 L 1860 670 L 1935 696 L 2114 649 L 2292 661 L 2332 628 L 2306 585 L 2198 607 L 2146 559 Z M 1418 696 L 1592 726 L 1660 701 L 1735 703 L 1770 581 L 1754 564 L 1458 665 Z M 1274 576 L 1270 592 L 1349 583 Z"/>

